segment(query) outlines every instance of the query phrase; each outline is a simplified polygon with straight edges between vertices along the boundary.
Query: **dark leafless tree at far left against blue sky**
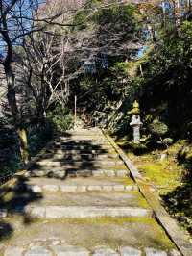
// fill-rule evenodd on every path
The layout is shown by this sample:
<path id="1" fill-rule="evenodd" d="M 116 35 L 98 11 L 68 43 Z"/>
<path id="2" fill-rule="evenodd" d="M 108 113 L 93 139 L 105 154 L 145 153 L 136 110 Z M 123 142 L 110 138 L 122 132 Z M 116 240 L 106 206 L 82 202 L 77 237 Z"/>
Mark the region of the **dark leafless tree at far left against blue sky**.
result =
<path id="1" fill-rule="evenodd" d="M 20 139 L 21 156 L 27 162 L 27 136 L 19 115 L 15 96 L 15 74 L 12 67 L 15 47 L 23 43 L 23 39 L 38 31 L 45 31 L 49 25 L 70 26 L 60 24 L 58 18 L 64 12 L 50 14 L 39 12 L 43 0 L 0 0 L 0 64 L 3 65 L 7 79 L 7 98 L 12 112 L 14 126 Z"/>

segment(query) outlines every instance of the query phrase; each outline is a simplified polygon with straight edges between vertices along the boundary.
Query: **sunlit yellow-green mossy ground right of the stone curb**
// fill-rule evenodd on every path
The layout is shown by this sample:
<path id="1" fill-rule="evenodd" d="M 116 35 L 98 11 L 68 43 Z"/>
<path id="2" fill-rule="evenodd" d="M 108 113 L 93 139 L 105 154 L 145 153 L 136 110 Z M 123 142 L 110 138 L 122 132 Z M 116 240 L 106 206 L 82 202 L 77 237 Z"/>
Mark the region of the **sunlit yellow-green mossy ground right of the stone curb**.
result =
<path id="1" fill-rule="evenodd" d="M 154 185 L 169 214 L 192 235 L 190 148 L 189 141 L 178 141 L 169 147 L 164 161 L 160 161 L 163 151 L 159 149 L 140 156 L 134 155 L 131 149 L 125 151 L 146 180 Z"/>

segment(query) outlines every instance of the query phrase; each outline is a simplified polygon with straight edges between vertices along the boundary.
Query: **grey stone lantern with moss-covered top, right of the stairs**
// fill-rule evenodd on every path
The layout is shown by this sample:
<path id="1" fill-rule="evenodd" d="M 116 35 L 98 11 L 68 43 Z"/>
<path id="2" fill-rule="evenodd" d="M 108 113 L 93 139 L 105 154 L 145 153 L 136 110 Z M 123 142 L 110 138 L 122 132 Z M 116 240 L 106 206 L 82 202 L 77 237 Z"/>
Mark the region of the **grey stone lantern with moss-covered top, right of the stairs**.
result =
<path id="1" fill-rule="evenodd" d="M 130 125 L 132 126 L 132 129 L 133 129 L 134 143 L 139 144 L 140 143 L 140 128 L 143 123 L 141 122 L 141 119 L 140 119 L 139 104 L 136 100 L 133 103 L 133 108 L 132 108 L 132 111 L 130 112 L 130 114 L 132 115 L 132 122 L 130 123 Z"/>

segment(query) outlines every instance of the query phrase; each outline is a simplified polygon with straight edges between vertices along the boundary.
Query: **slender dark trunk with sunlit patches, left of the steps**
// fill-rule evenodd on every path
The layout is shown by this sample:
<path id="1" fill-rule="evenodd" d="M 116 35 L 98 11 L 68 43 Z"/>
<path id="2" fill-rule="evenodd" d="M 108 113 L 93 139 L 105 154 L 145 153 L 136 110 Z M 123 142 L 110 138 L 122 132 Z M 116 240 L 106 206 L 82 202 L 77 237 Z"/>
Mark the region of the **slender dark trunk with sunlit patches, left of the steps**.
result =
<path id="1" fill-rule="evenodd" d="M 12 112 L 12 118 L 14 121 L 14 126 L 18 134 L 19 144 L 20 144 L 20 154 L 24 165 L 29 162 L 29 152 L 28 152 L 28 141 L 26 130 L 22 127 L 20 116 L 18 112 L 18 107 L 16 104 L 16 95 L 14 90 L 14 74 L 12 72 L 11 64 L 5 64 L 5 73 L 8 83 L 8 102 Z"/>

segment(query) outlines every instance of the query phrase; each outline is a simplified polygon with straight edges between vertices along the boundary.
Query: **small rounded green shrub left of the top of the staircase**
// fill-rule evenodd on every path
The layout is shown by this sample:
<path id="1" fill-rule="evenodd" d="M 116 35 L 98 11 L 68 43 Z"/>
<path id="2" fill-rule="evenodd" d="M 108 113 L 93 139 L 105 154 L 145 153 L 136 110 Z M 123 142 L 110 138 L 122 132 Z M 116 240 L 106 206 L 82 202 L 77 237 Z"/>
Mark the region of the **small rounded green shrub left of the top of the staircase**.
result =
<path id="1" fill-rule="evenodd" d="M 67 108 L 63 109 L 60 104 L 48 113 L 48 119 L 53 122 L 59 132 L 64 132 L 73 127 L 74 118 L 71 111 Z"/>

